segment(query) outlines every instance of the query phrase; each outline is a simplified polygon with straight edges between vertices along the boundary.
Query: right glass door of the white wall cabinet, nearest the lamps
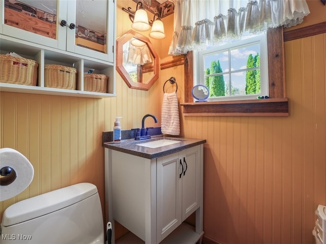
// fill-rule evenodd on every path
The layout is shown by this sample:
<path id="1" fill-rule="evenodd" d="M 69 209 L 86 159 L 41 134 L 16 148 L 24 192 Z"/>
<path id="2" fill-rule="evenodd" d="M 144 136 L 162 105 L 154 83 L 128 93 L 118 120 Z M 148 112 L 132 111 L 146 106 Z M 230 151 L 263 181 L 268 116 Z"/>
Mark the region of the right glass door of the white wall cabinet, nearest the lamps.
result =
<path id="1" fill-rule="evenodd" d="M 113 62 L 113 0 L 68 1 L 67 12 L 67 51 Z"/>

